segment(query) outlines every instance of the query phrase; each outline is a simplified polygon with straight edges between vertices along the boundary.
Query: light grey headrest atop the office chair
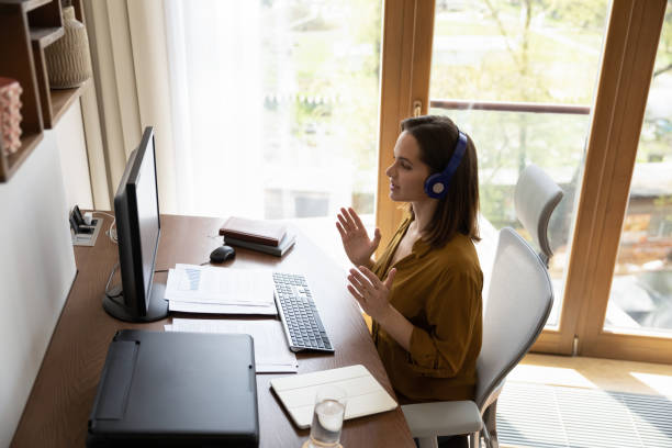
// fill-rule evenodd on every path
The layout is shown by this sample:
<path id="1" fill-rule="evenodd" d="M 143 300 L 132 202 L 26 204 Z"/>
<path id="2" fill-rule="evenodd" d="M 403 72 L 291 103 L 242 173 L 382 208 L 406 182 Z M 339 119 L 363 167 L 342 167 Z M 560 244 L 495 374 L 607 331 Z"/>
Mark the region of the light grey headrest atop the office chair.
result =
<path id="1" fill-rule="evenodd" d="M 528 165 L 523 170 L 514 193 L 516 216 L 541 250 L 539 256 L 547 265 L 553 255 L 548 240 L 548 221 L 560 200 L 562 190 L 539 167 Z"/>

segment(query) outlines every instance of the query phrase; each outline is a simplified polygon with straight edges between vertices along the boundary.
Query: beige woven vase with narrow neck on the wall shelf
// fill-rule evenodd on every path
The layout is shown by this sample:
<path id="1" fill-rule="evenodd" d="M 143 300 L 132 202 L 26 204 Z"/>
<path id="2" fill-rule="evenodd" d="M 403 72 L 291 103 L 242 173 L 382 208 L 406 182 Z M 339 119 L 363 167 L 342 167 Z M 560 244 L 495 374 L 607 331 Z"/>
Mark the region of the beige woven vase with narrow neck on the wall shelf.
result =
<path id="1" fill-rule="evenodd" d="M 52 89 L 78 87 L 91 77 L 89 37 L 74 7 L 63 9 L 63 27 L 65 35 L 44 49 Z"/>

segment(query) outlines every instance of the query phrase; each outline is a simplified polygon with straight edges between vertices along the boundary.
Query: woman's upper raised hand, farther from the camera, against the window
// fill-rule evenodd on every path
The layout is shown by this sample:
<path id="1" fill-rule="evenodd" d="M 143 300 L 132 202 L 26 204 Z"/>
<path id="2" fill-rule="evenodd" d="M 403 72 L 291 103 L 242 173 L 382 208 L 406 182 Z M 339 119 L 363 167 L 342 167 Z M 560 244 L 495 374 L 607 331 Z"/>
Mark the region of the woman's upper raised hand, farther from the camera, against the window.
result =
<path id="1" fill-rule="evenodd" d="M 340 209 L 336 228 L 340 234 L 343 247 L 355 266 L 371 267 L 371 256 L 380 244 L 380 229 L 376 228 L 373 239 L 352 208 Z"/>

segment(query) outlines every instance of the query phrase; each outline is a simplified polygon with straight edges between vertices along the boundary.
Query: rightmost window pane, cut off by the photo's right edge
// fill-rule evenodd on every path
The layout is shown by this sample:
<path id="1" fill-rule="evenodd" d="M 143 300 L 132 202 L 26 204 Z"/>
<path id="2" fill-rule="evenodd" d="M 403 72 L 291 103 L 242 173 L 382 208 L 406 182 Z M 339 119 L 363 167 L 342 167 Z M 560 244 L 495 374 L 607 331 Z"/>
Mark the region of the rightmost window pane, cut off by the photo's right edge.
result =
<path id="1" fill-rule="evenodd" d="M 672 336 L 672 10 L 639 137 L 605 328 Z"/>

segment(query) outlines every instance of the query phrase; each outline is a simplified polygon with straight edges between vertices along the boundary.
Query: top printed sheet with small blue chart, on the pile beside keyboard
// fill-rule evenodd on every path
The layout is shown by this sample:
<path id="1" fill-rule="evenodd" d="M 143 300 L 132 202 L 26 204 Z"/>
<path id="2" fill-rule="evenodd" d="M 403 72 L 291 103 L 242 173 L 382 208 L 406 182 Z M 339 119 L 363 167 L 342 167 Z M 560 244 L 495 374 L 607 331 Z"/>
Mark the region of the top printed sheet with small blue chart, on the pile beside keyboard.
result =
<path id="1" fill-rule="evenodd" d="M 168 271 L 166 299 L 178 302 L 269 307 L 273 280 L 269 270 L 176 265 Z"/>

